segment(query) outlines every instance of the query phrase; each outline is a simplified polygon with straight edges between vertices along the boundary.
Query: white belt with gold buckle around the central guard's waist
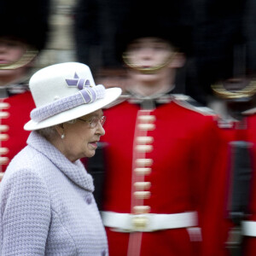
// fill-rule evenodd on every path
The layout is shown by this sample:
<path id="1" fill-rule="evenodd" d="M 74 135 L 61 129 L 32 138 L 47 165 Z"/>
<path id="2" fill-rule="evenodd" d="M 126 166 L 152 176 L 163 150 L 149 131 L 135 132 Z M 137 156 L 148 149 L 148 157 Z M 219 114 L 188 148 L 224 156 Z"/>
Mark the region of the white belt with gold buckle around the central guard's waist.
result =
<path id="1" fill-rule="evenodd" d="M 103 224 L 119 232 L 152 232 L 156 230 L 189 228 L 197 225 L 196 212 L 172 214 L 101 212 L 101 214 Z"/>

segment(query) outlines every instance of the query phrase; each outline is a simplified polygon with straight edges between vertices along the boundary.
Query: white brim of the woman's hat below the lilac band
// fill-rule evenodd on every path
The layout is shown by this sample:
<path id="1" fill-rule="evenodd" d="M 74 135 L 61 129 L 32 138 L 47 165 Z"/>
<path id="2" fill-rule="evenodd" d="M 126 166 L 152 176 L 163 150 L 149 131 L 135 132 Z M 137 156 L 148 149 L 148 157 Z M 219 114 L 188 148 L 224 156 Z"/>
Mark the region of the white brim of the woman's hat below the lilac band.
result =
<path id="1" fill-rule="evenodd" d="M 76 108 L 68 109 L 65 112 L 57 113 L 41 122 L 30 120 L 26 123 L 26 125 L 24 125 L 24 130 L 35 131 L 49 126 L 59 125 L 72 119 L 77 119 L 86 114 L 93 113 L 98 109 L 108 106 L 108 104 L 115 101 L 121 95 L 121 93 L 122 90 L 120 88 L 109 88 L 106 90 L 105 97 L 96 100 L 96 102 L 83 104 Z"/>

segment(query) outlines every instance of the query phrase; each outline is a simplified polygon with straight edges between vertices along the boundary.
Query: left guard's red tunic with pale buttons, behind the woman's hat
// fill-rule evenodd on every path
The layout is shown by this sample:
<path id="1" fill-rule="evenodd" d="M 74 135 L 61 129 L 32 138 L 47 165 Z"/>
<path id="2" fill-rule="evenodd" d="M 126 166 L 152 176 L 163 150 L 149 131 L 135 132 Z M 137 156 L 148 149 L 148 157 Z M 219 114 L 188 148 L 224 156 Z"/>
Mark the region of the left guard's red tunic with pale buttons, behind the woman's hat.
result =
<path id="1" fill-rule="evenodd" d="M 30 91 L 0 99 L 0 160 L 1 172 L 5 172 L 9 161 L 26 146 L 29 131 L 23 126 L 35 108 Z"/>

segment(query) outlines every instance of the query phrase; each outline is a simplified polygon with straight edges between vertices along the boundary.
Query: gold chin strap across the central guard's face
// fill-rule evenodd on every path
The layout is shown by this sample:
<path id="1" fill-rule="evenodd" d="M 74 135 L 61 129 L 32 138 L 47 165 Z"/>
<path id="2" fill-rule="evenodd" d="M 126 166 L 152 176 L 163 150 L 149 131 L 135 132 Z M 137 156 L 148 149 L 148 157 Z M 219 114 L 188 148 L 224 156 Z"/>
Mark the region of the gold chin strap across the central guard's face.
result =
<path id="1" fill-rule="evenodd" d="M 131 63 L 129 60 L 129 55 L 127 53 L 124 53 L 122 57 L 123 57 L 123 61 L 125 62 L 125 65 L 127 65 L 128 67 L 131 67 L 131 69 L 137 70 L 140 73 L 150 74 L 150 73 L 156 73 L 163 67 L 166 67 L 167 65 L 169 65 L 172 62 L 175 55 L 176 53 L 172 53 L 166 58 L 166 61 L 154 67 L 140 67 L 137 64 Z"/>

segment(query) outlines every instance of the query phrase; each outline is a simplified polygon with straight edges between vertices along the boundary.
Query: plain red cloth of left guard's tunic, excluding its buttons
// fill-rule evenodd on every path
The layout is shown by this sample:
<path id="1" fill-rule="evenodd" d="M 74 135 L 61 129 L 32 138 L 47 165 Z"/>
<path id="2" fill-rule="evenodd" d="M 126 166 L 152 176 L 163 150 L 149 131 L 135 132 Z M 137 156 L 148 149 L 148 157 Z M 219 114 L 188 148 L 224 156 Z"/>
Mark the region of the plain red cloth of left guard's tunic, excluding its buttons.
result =
<path id="1" fill-rule="evenodd" d="M 9 118 L 1 119 L 1 125 L 9 125 L 8 131 L 1 131 L 2 134 L 9 136 L 8 140 L 0 142 L 2 148 L 9 148 L 9 153 L 2 154 L 2 156 L 12 160 L 15 154 L 26 146 L 26 139 L 30 132 L 25 131 L 23 126 L 30 120 L 30 112 L 32 108 L 35 108 L 35 105 L 29 91 L 4 98 L 1 102 L 9 103 L 8 109 L 1 110 L 9 113 Z M 3 172 L 5 172 L 8 164 L 9 162 L 1 166 Z"/>

